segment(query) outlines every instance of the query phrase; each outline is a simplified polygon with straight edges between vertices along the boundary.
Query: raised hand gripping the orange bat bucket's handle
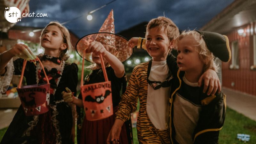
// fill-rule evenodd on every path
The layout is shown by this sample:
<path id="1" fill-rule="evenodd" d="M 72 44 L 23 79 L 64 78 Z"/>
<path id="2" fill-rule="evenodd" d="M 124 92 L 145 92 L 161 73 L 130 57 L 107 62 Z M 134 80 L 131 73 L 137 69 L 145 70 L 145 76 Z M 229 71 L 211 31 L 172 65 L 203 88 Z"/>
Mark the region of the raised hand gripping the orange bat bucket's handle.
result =
<path id="1" fill-rule="evenodd" d="M 105 56 L 107 50 L 100 42 L 93 41 L 89 45 L 89 47 L 86 49 L 86 53 L 89 53 L 89 52 L 93 52 L 96 55 L 102 54 L 102 56 Z"/>

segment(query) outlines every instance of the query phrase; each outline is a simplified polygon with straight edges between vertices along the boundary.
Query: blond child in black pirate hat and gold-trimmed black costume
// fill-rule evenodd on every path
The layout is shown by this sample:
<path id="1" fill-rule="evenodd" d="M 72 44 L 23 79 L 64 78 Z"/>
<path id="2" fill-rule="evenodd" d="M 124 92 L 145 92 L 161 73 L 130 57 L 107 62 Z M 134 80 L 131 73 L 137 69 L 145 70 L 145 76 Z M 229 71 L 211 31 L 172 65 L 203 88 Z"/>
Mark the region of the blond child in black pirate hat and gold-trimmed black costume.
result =
<path id="1" fill-rule="evenodd" d="M 172 82 L 171 142 L 218 143 L 225 120 L 226 95 L 218 92 L 208 96 L 197 82 L 206 70 L 217 72 L 215 57 L 230 60 L 228 38 L 212 32 L 182 32 L 177 51 L 179 71 Z"/>

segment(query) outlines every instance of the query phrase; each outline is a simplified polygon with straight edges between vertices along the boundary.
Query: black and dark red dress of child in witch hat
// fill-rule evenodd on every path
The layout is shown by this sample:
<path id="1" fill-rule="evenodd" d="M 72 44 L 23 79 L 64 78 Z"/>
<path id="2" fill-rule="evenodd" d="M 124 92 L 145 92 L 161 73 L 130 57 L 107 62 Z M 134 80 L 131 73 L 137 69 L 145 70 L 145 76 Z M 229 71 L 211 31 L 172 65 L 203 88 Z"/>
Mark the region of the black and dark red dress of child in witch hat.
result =
<path id="1" fill-rule="evenodd" d="M 121 78 L 116 77 L 114 69 L 106 68 L 108 80 L 111 81 L 112 102 L 114 114 L 107 118 L 97 121 L 88 121 L 84 116 L 83 108 L 76 107 L 77 111 L 77 143 L 78 144 L 104 144 L 107 142 L 108 134 L 115 122 L 115 112 L 121 100 L 122 93 L 126 89 L 126 75 Z M 105 82 L 102 68 L 93 70 L 85 77 L 85 84 Z M 82 99 L 81 93 L 79 99 Z M 132 143 L 132 124 L 131 119 L 126 121 L 120 133 L 120 143 Z"/>

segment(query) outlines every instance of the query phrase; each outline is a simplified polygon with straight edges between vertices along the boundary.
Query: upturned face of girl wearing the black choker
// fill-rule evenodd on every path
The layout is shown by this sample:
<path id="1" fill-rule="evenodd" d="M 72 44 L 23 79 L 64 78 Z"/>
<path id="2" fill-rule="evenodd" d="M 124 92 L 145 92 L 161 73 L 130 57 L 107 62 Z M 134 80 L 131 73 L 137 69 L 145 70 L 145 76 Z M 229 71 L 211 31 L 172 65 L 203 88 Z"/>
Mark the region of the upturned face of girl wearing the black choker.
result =
<path id="1" fill-rule="evenodd" d="M 41 36 L 41 46 L 45 50 L 51 51 L 62 51 L 67 48 L 67 44 L 63 43 L 62 32 L 58 26 L 48 26 L 44 29 L 43 35 Z"/>

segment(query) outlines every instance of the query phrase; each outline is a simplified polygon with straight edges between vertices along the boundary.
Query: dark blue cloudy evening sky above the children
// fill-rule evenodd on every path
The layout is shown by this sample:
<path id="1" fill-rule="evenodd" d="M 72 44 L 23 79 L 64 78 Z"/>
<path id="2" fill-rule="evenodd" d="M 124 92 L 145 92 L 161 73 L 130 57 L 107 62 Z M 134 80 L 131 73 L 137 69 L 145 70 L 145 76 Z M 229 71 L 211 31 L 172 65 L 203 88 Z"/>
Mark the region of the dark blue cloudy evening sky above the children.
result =
<path id="1" fill-rule="evenodd" d="M 111 1 L 30 0 L 30 13 L 46 13 L 48 17 L 23 18 L 17 25 L 44 27 L 52 20 L 61 23 L 72 20 L 65 26 L 82 37 L 98 32 L 113 9 L 116 33 L 163 15 L 172 19 L 180 30 L 199 29 L 234 0 L 116 0 L 92 13 L 91 21 L 86 19 L 88 12 Z"/>

